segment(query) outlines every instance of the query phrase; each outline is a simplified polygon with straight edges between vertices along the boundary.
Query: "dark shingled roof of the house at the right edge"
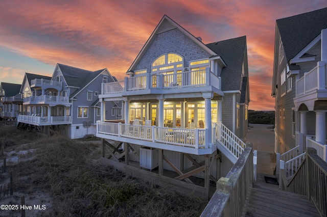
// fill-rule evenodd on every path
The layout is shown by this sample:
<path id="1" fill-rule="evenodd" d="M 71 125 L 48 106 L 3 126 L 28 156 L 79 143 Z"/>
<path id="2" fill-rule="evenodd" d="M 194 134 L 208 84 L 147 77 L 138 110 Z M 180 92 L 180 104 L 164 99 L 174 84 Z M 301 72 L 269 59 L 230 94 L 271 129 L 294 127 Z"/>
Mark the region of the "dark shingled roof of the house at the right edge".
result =
<path id="1" fill-rule="evenodd" d="M 287 62 L 327 28 L 327 8 L 276 20 Z"/>

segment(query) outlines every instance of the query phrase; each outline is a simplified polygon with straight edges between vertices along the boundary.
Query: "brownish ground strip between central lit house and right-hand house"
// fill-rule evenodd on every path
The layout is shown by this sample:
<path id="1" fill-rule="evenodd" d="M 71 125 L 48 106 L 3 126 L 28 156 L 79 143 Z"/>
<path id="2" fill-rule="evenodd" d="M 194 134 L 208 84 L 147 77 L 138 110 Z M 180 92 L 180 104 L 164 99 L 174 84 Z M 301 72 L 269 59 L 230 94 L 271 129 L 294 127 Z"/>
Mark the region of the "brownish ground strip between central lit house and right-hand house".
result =
<path id="1" fill-rule="evenodd" d="M 250 124 L 247 142 L 257 150 L 257 173 L 273 175 L 276 166 L 275 133 L 273 125 Z"/>

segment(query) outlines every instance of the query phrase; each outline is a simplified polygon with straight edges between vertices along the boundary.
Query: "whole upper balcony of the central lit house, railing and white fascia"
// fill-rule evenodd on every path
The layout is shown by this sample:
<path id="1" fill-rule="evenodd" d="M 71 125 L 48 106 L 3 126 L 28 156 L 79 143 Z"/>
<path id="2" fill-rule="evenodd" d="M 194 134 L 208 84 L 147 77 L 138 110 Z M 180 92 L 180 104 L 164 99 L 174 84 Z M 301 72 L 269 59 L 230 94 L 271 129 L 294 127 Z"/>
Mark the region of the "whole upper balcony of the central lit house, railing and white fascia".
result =
<path id="1" fill-rule="evenodd" d="M 102 84 L 102 94 L 109 96 L 220 90 L 221 78 L 211 72 L 210 68 L 166 74 L 144 73 L 125 77 L 124 81 Z"/>

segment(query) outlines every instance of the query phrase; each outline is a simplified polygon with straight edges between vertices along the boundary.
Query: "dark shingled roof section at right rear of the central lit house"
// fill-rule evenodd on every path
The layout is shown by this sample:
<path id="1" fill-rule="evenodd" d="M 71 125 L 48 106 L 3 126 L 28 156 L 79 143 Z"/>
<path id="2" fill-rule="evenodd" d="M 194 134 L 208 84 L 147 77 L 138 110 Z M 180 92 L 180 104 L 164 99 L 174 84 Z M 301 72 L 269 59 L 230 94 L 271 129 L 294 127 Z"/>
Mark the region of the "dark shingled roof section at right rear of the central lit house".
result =
<path id="1" fill-rule="evenodd" d="M 222 91 L 240 90 L 246 36 L 214 42 L 206 46 L 220 55 L 227 65 L 222 69 L 220 75 Z"/>

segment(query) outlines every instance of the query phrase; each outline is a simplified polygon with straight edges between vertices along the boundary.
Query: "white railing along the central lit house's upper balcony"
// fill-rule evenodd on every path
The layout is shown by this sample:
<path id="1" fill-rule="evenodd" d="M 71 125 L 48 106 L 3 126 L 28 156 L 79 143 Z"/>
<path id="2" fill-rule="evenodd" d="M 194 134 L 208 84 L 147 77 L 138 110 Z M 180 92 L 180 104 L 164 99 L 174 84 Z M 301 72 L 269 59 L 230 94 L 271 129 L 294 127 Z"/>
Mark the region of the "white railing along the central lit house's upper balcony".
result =
<path id="1" fill-rule="evenodd" d="M 221 78 L 212 73 L 209 68 L 172 74 L 145 73 L 135 77 L 125 77 L 124 82 L 102 84 L 102 94 L 202 86 L 214 86 L 220 89 Z"/>

